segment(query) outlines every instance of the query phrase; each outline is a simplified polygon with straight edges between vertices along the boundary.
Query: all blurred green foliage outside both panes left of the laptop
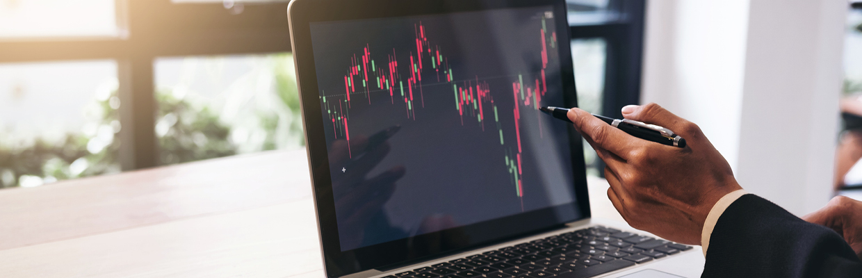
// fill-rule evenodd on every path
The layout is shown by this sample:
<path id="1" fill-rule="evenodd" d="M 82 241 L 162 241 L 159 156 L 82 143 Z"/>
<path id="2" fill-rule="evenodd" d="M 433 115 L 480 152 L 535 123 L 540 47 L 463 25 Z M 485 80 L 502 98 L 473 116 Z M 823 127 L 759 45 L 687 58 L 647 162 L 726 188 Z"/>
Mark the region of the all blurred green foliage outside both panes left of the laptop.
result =
<path id="1" fill-rule="evenodd" d="M 221 158 L 242 152 L 289 149 L 304 145 L 297 81 L 289 53 L 265 57 L 268 66 L 259 74 L 271 74 L 272 91 L 239 91 L 257 94 L 261 102 L 249 105 L 243 118 L 228 122 L 207 102 L 178 97 L 173 90 L 158 90 L 155 98 L 156 136 L 162 164 L 178 164 Z M 116 90 L 97 100 L 87 111 L 89 121 L 81 133 L 66 134 L 65 139 L 15 144 L 0 139 L 0 188 L 38 186 L 43 183 L 121 171 L 120 107 Z M 277 103 L 269 103 L 277 102 Z M 249 125 L 249 123 L 252 123 Z M 253 127 L 249 127 L 253 126 Z M 259 141 L 234 142 L 237 129 L 243 133 L 263 134 Z M 249 146 L 251 144 L 252 146 Z M 246 151 L 243 151 L 246 150 Z"/>

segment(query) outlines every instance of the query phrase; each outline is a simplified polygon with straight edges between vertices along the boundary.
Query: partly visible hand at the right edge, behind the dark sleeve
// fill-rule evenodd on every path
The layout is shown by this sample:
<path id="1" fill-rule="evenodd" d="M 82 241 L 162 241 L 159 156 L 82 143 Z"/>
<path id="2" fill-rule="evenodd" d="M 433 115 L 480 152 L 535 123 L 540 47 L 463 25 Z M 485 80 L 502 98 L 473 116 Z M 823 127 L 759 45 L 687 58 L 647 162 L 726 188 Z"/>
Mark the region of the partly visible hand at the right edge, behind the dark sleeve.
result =
<path id="1" fill-rule="evenodd" d="M 826 207 L 803 216 L 803 219 L 838 232 L 862 259 L 862 201 L 836 196 Z"/>

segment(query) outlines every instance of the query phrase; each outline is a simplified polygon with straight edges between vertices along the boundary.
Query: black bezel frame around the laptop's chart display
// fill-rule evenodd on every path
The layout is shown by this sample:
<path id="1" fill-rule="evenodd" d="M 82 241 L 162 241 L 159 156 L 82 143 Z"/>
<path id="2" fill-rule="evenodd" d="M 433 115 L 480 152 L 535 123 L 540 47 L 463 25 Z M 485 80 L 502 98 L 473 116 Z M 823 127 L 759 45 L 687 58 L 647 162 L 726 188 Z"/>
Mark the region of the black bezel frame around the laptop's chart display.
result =
<path id="1" fill-rule="evenodd" d="M 470 235 L 465 244 L 434 251 L 411 252 L 406 257 L 377 256 L 391 250 L 398 244 L 409 241 L 439 238 L 448 230 L 431 232 L 410 238 L 398 239 L 383 244 L 365 246 L 355 250 L 340 250 L 338 225 L 335 218 L 332 180 L 329 172 L 328 151 L 323 132 L 323 112 L 320 107 L 315 59 L 311 45 L 311 22 L 349 21 L 383 17 L 411 15 L 439 15 L 453 12 L 481 11 L 488 9 L 527 8 L 553 6 L 556 18 L 566 18 L 565 0 L 294 0 L 288 8 L 291 43 L 297 69 L 297 86 L 303 113 L 303 126 L 306 136 L 306 150 L 309 155 L 309 170 L 315 198 L 318 232 L 321 237 L 324 269 L 328 277 L 340 277 L 368 269 L 385 269 L 404 263 L 415 262 L 432 257 L 446 256 L 453 252 L 474 249 L 488 244 L 496 244 L 513 238 L 520 238 L 559 228 L 565 223 L 557 220 L 559 213 L 579 213 L 580 218 L 590 217 L 590 201 L 587 193 L 584 166 L 584 149 L 580 135 L 568 128 L 572 151 L 573 191 L 577 200 L 557 207 L 547 207 L 528 213 L 520 213 L 500 219 L 461 226 Z M 566 20 L 556 20 L 558 41 L 571 40 Z M 574 69 L 572 66 L 571 46 L 559 43 L 560 77 L 565 93 L 565 105 L 577 107 Z M 451 229 L 450 229 L 451 230 Z M 361 263 L 359 262 L 361 259 Z"/>

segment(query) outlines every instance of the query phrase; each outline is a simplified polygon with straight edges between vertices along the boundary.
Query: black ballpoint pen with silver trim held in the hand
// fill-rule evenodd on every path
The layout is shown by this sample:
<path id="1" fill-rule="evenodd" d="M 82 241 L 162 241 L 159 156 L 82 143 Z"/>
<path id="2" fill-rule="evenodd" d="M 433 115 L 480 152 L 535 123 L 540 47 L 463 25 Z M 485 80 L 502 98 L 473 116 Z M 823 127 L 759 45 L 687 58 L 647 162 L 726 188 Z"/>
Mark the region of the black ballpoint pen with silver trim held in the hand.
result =
<path id="1" fill-rule="evenodd" d="M 551 114 L 554 118 L 557 118 L 559 120 L 572 122 L 572 120 L 569 120 L 569 117 L 566 115 L 569 113 L 569 109 L 548 106 L 540 108 L 540 110 L 547 114 Z M 599 118 L 600 120 L 603 120 L 604 122 L 607 122 L 613 127 L 619 128 L 625 133 L 631 134 L 634 137 L 653 141 L 662 145 L 672 145 L 678 146 L 680 148 L 685 147 L 685 139 L 665 127 L 650 125 L 637 120 L 617 120 L 602 115 L 592 115 L 596 116 L 596 118 Z"/>

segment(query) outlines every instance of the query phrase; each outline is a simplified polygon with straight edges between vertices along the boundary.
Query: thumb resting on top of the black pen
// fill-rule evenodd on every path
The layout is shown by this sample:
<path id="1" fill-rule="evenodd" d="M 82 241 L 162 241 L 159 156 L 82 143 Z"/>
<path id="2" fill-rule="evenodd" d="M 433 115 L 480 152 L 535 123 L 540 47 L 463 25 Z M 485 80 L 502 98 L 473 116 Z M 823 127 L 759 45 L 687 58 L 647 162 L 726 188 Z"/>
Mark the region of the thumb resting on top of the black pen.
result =
<path id="1" fill-rule="evenodd" d="M 666 127 L 689 140 L 689 143 L 691 143 L 691 139 L 703 137 L 700 127 L 653 102 L 647 103 L 647 105 L 628 105 L 622 108 L 622 116 L 628 120 Z"/>

